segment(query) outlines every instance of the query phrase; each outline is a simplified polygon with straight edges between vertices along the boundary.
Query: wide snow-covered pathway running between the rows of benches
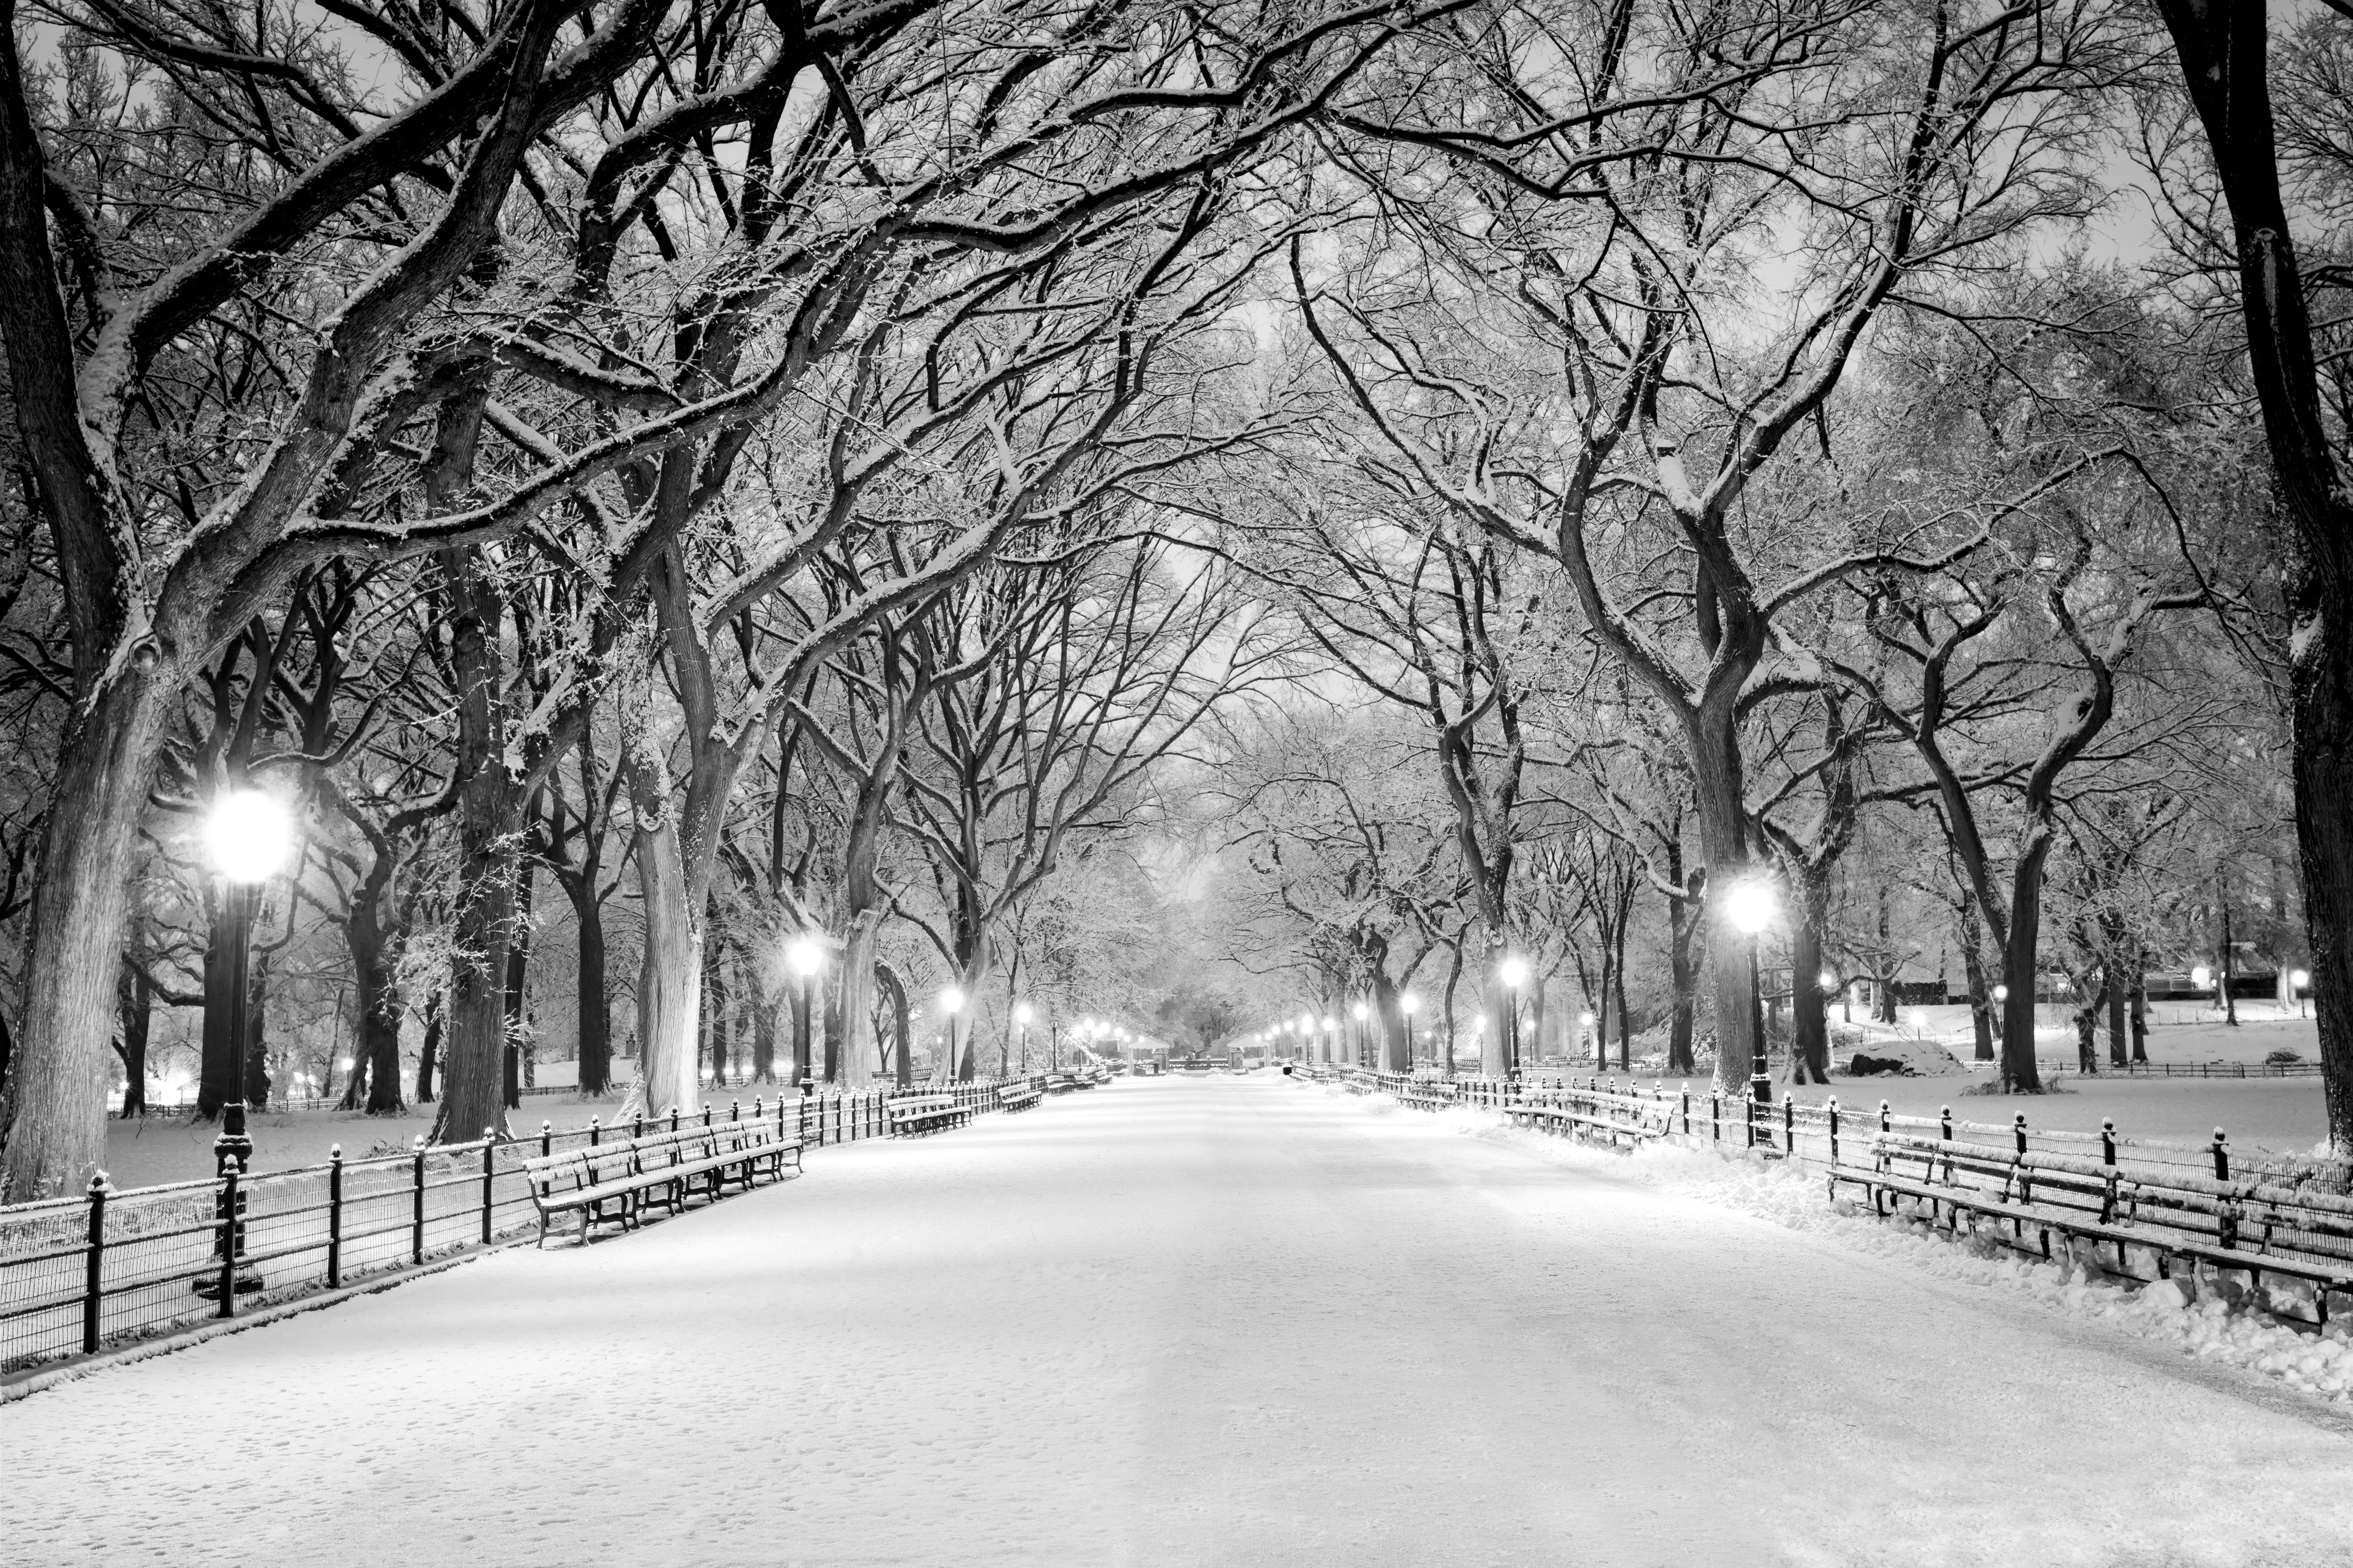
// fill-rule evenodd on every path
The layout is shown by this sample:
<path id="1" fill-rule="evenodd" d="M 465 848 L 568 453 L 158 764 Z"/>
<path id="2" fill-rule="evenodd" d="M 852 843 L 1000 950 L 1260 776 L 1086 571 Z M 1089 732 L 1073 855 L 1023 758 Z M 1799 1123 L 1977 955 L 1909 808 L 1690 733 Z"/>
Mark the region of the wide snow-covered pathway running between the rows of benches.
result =
<path id="1" fill-rule="evenodd" d="M 2292 1394 L 1607 1171 L 1120 1081 L 0 1408 L 7 1563 L 2344 1563 Z"/>

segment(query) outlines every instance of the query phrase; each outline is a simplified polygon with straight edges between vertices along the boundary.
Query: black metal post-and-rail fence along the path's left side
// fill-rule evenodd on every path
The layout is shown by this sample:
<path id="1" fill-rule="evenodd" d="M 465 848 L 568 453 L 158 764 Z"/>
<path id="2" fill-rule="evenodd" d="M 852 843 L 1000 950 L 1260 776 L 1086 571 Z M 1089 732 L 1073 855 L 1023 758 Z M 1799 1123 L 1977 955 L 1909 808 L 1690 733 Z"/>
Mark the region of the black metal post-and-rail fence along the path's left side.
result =
<path id="1" fill-rule="evenodd" d="M 976 1112 L 1007 1084 L 936 1084 Z M 1038 1081 L 1038 1079 L 1026 1079 Z M 522 1161 L 692 1119 L 769 1119 L 809 1147 L 889 1133 L 894 1088 L 706 1103 L 515 1138 L 475 1138 L 259 1175 L 228 1173 L 0 1208 L 0 1371 L 235 1316 L 242 1305 L 332 1291 L 536 1227 Z M 226 1288 L 224 1288 L 226 1286 Z M 240 1302 L 247 1298 L 247 1302 Z"/>

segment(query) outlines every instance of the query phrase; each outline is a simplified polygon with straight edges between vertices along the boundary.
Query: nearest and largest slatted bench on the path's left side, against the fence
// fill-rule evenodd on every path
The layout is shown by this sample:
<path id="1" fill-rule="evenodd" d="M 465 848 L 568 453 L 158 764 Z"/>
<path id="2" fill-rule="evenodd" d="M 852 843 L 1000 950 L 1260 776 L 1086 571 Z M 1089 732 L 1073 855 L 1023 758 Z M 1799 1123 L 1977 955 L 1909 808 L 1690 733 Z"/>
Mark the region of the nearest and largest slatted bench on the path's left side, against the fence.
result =
<path id="1" fill-rule="evenodd" d="M 781 1178 L 786 1161 L 800 1168 L 800 1140 L 781 1135 L 774 1121 L 696 1121 L 539 1154 L 522 1161 L 522 1175 L 539 1211 L 539 1246 L 546 1246 L 558 1215 L 581 1215 L 586 1244 L 598 1225 L 635 1227 L 649 1201 L 678 1213 L 696 1190 L 711 1199 L 729 1180 L 751 1190 L 762 1171 Z"/>

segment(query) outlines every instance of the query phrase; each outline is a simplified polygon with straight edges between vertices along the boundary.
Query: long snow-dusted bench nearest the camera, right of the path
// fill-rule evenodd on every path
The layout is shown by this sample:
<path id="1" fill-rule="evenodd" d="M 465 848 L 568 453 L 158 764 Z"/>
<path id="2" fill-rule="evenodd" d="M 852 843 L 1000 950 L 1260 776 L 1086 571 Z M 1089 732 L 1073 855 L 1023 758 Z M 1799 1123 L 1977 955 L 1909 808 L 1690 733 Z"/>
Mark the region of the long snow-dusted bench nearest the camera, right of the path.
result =
<path id="1" fill-rule="evenodd" d="M 1948 1232 L 1981 1227 L 2005 1246 L 2052 1258 L 2052 1237 L 2085 1244 L 2104 1269 L 2127 1279 L 2172 1279 L 2195 1265 L 2297 1279 L 2313 1291 L 2313 1319 L 2327 1324 L 2329 1293 L 2353 1293 L 2353 1199 L 2257 1178 L 2202 1178 L 2167 1166 L 2132 1166 L 2042 1150 L 1873 1133 L 1868 1164 L 1833 1159 L 1831 1197 L 1861 1187 L 1878 1215 L 1904 1201 L 1925 1206 Z M 2217 1143 L 2217 1164 L 2226 1157 Z M 2007 1232 L 2007 1237 L 2002 1237 Z M 2148 1255 L 2137 1267 L 2134 1248 Z M 2113 1265 L 2108 1262 L 2113 1258 Z"/>

